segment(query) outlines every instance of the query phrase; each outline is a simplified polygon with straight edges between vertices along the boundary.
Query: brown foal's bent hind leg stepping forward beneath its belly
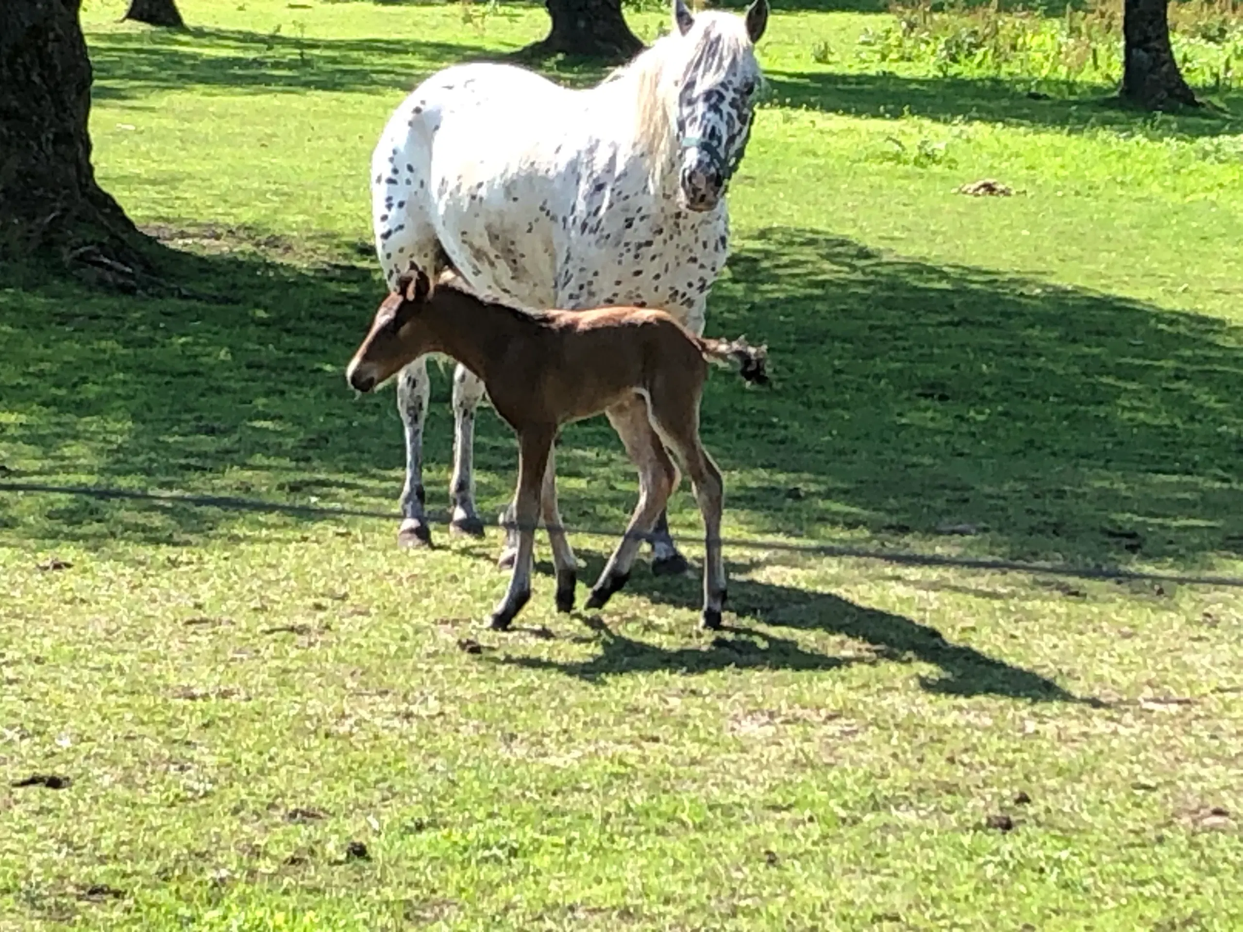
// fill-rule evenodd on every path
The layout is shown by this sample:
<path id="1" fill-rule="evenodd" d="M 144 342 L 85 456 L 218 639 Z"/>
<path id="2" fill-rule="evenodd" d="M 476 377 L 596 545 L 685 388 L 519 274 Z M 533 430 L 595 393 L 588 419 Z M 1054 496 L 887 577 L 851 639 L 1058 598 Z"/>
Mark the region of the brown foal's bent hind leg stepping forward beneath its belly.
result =
<path id="1" fill-rule="evenodd" d="M 639 502 L 630 516 L 625 536 L 592 587 L 585 603 L 588 609 L 603 606 L 613 593 L 625 585 L 643 537 L 651 529 L 656 516 L 677 486 L 677 470 L 651 429 L 644 400 L 636 395 L 634 400 L 614 405 L 605 414 L 639 470 Z"/>

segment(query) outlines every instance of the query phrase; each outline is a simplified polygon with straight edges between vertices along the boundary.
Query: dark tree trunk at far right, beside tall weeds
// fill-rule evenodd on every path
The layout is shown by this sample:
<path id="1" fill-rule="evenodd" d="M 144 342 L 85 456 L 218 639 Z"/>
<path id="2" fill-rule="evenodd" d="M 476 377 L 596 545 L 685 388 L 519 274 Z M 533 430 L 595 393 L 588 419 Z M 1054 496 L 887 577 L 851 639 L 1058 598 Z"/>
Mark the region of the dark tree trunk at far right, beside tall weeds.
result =
<path id="1" fill-rule="evenodd" d="M 1124 101 L 1150 111 L 1198 107 L 1170 47 L 1168 0 L 1124 0 Z"/>

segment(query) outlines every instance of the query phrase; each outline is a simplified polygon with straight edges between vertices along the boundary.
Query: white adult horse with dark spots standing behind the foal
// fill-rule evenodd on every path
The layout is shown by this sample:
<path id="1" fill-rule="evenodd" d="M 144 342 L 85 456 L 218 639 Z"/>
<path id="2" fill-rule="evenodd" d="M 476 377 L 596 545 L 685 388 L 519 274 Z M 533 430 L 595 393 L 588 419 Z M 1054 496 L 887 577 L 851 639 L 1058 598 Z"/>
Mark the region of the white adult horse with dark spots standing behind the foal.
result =
<path id="1" fill-rule="evenodd" d="M 751 130 L 755 43 L 768 5 L 755 0 L 740 17 L 692 15 L 674 0 L 669 35 L 589 89 L 493 63 L 452 66 L 419 85 L 372 157 L 375 247 L 389 287 L 411 265 L 451 267 L 488 301 L 531 311 L 659 307 L 702 333 L 726 261 L 725 191 Z M 420 546 L 431 539 L 426 358 L 401 369 L 397 394 L 406 440 L 398 539 Z M 482 533 L 472 476 L 482 396 L 484 383 L 459 365 L 450 527 L 470 534 Z M 659 442 L 638 396 L 609 420 L 631 459 Z M 502 565 L 515 543 L 511 531 Z M 653 572 L 685 568 L 663 511 Z"/>

